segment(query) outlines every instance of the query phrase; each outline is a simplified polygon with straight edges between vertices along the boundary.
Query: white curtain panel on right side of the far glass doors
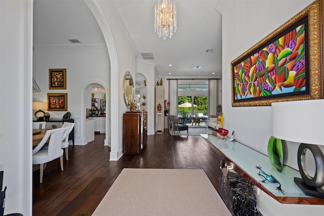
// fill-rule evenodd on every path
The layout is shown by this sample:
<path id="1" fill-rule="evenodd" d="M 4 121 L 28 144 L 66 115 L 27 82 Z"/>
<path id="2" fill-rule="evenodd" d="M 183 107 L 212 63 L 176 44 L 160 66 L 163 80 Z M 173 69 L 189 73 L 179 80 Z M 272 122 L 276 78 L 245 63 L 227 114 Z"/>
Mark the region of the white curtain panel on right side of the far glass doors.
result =
<path id="1" fill-rule="evenodd" d="M 208 80 L 208 116 L 217 115 L 218 79 Z"/>

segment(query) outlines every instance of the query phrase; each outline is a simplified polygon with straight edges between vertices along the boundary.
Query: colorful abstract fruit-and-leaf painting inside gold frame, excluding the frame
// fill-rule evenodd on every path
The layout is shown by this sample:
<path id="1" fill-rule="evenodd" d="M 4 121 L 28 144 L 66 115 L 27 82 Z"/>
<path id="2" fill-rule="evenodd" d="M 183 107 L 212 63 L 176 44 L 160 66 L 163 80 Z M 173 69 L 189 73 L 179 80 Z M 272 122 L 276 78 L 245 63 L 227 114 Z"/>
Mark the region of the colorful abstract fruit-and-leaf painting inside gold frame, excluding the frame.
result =
<path id="1" fill-rule="evenodd" d="M 308 94 L 306 25 L 307 19 L 301 20 L 234 63 L 234 101 Z"/>

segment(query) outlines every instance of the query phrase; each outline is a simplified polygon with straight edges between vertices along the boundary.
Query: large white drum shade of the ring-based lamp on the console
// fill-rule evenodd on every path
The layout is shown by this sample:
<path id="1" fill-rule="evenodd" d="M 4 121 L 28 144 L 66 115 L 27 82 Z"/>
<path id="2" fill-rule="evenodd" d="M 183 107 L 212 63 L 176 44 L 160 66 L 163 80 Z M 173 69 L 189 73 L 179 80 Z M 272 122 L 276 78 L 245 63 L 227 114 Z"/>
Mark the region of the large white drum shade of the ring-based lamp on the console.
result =
<path id="1" fill-rule="evenodd" d="M 278 102 L 271 107 L 275 138 L 324 145 L 324 100 Z"/>

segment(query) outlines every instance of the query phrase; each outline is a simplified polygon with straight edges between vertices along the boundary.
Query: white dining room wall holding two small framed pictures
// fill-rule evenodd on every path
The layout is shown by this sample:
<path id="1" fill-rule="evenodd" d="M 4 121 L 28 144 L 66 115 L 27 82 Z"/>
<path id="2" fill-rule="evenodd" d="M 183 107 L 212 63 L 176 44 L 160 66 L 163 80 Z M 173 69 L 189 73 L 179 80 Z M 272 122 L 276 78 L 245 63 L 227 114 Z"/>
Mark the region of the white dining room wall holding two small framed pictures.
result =
<path id="1" fill-rule="evenodd" d="M 49 90 L 49 69 L 55 68 L 66 69 L 66 90 Z M 48 93 L 67 93 L 67 111 L 71 112 L 71 118 L 76 122 L 74 142 L 76 145 L 86 144 L 84 127 L 80 124 L 84 122 L 82 119 L 86 115 L 85 109 L 90 106 L 91 95 L 89 94 L 89 101 L 85 101 L 82 91 L 89 82 L 100 81 L 109 87 L 110 64 L 106 45 L 35 46 L 33 77 L 41 89 L 41 92 L 33 93 L 33 101 L 47 102 Z M 107 96 L 109 106 L 110 95 Z M 62 119 L 67 111 L 49 111 L 49 113 L 51 119 Z M 106 118 L 110 119 L 109 112 Z"/>

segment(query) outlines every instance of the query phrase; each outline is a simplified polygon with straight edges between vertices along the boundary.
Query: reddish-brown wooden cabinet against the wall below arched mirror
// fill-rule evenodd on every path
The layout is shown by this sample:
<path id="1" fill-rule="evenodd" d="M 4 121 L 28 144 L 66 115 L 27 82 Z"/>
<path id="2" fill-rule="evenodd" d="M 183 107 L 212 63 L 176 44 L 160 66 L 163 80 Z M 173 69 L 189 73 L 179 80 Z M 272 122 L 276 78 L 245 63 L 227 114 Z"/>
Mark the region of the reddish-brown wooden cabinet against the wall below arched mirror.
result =
<path id="1" fill-rule="evenodd" d="M 123 153 L 138 155 L 147 141 L 147 112 L 123 114 Z"/>

